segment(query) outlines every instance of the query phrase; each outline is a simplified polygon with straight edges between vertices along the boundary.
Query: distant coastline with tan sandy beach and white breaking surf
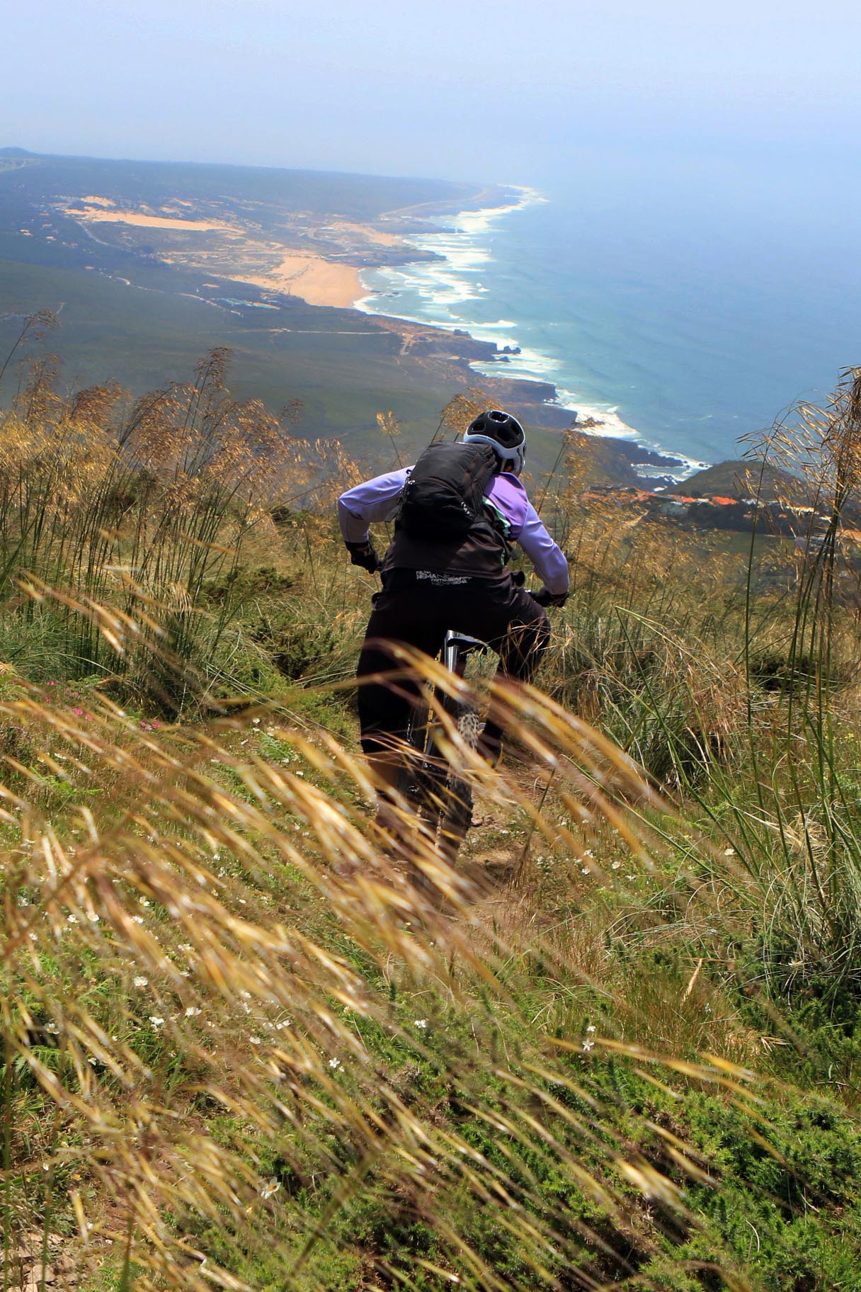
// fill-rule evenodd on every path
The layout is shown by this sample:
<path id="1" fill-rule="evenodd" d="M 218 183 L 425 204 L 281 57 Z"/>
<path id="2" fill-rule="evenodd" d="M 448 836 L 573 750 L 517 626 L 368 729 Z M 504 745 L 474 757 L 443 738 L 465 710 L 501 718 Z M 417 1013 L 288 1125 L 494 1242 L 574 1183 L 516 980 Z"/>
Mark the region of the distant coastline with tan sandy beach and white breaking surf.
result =
<path id="1" fill-rule="evenodd" d="M 279 202 L 191 200 L 173 186 L 147 202 L 120 191 L 107 189 L 108 196 L 83 187 L 81 196 L 62 195 L 45 208 L 70 222 L 71 238 L 62 230 L 70 251 L 76 235 L 85 236 L 88 271 L 119 276 L 120 256 L 120 282 L 148 286 L 145 278 L 169 266 L 187 295 L 235 314 L 279 310 L 289 301 L 359 313 L 374 331 L 391 333 L 385 348 L 408 370 L 408 384 L 430 379 L 448 393 L 481 386 L 489 401 L 512 406 L 536 428 L 559 433 L 576 424 L 578 433 L 614 446 L 626 481 L 661 488 L 707 465 L 649 443 L 612 406 L 581 398 L 563 351 L 543 353 L 546 333 L 531 332 L 528 283 L 523 326 L 518 305 L 496 304 L 511 298 L 483 282 L 497 258 L 506 264 L 506 235 L 498 255 L 493 243 L 497 226 L 547 200 L 534 189 L 460 186 L 456 195 L 373 213 L 334 203 L 307 211 Z M 512 314 L 496 318 L 493 309 Z M 289 323 L 272 328 L 279 332 L 289 333 Z M 555 457 L 552 444 L 545 451 Z"/>

